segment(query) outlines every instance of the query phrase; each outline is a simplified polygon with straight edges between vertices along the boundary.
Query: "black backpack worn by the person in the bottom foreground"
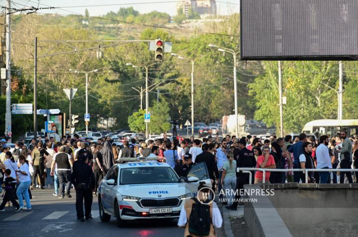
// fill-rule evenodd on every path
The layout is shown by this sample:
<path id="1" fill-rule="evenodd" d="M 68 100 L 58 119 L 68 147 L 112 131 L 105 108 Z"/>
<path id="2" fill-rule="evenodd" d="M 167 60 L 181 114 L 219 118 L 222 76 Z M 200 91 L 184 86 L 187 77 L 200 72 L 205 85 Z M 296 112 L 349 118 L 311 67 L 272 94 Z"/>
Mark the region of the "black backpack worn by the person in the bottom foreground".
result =
<path id="1" fill-rule="evenodd" d="M 197 236 L 208 236 L 211 227 L 210 205 L 200 203 L 196 198 L 189 216 L 189 233 Z"/>

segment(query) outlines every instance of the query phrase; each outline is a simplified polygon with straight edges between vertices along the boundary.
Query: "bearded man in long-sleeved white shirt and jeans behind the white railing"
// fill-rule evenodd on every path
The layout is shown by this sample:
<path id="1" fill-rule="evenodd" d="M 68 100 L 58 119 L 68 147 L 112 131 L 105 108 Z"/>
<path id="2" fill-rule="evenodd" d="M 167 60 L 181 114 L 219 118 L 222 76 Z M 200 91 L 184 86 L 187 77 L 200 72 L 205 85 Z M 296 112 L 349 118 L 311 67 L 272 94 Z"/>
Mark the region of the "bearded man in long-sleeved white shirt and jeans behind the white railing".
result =
<path id="1" fill-rule="evenodd" d="M 332 169 L 331 158 L 328 150 L 328 136 L 320 137 L 319 146 L 316 149 L 317 169 Z M 320 183 L 327 183 L 330 172 L 318 172 Z"/>

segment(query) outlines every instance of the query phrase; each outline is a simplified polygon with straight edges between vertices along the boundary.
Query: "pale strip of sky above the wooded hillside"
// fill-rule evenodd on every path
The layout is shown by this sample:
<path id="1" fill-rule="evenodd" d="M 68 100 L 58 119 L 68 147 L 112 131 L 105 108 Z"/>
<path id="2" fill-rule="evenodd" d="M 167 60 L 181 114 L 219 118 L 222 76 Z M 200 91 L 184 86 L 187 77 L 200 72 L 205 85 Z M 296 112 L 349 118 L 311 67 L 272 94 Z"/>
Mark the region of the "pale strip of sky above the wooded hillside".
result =
<path id="1" fill-rule="evenodd" d="M 177 4 L 178 2 L 163 2 L 163 1 L 175 1 L 175 0 L 11 0 L 11 7 L 22 8 L 27 6 L 37 6 L 37 3 L 40 2 L 39 7 L 50 6 L 82 6 L 82 5 L 99 5 L 99 4 L 124 4 L 124 5 L 112 5 L 112 6 L 88 6 L 88 7 L 69 7 L 63 9 L 54 9 L 54 10 L 40 10 L 38 12 L 44 13 L 59 13 L 59 14 L 71 14 L 80 13 L 84 14 L 85 9 L 88 8 L 89 15 L 99 16 L 107 13 L 108 11 L 116 12 L 120 7 L 129 7 L 133 8 L 140 13 L 147 13 L 153 10 L 158 10 L 161 12 L 167 12 L 171 16 L 176 15 L 177 13 Z M 240 0 L 219 0 L 217 2 L 218 14 L 227 15 L 234 12 L 239 12 L 239 3 Z M 148 3 L 148 2 L 162 2 L 162 3 Z M 128 4 L 127 4 L 128 3 Z M 131 4 L 132 3 L 132 4 Z M 22 5 L 21 5 L 22 4 Z M 44 4 L 44 5 L 41 5 Z M 5 5 L 5 0 L 0 0 L 0 5 Z"/>

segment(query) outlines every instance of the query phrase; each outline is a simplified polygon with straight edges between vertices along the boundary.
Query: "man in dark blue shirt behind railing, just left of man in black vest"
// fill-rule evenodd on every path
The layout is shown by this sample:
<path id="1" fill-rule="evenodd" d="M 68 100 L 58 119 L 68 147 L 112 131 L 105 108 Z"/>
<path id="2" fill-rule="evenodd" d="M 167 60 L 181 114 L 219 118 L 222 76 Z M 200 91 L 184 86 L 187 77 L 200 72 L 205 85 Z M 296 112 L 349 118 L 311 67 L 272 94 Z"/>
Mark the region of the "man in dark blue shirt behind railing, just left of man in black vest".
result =
<path id="1" fill-rule="evenodd" d="M 298 136 L 299 141 L 293 144 L 287 152 L 287 157 L 290 157 L 291 155 L 289 153 L 293 152 L 293 169 L 301 169 L 300 162 L 299 162 L 299 156 L 304 153 L 303 143 L 307 141 L 307 135 L 305 133 L 301 133 Z M 294 182 L 299 182 L 300 179 L 303 179 L 303 172 L 302 171 L 295 171 L 293 172 L 293 180 Z"/>

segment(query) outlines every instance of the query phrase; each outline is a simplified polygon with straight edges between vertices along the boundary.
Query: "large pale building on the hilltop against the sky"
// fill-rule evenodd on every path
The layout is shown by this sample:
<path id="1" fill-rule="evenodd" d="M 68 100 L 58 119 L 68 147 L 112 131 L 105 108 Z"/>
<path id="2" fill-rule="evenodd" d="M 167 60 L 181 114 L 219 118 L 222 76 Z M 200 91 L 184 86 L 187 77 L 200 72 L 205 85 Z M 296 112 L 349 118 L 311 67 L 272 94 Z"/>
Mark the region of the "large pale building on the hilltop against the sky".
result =
<path id="1" fill-rule="evenodd" d="M 190 9 L 197 12 L 199 15 L 216 15 L 216 1 L 215 0 L 187 0 L 184 1 L 182 7 L 183 14 L 189 16 Z"/>

